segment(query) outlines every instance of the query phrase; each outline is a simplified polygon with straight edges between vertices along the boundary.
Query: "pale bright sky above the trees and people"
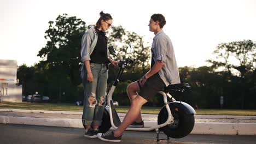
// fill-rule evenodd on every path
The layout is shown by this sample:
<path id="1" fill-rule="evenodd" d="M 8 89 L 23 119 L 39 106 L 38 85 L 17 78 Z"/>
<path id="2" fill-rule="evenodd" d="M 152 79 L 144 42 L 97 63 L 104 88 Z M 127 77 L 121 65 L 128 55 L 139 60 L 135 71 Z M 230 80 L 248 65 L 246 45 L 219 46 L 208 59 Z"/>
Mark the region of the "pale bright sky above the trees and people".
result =
<path id="1" fill-rule="evenodd" d="M 165 16 L 164 32 L 170 37 L 178 67 L 210 65 L 212 52 L 220 43 L 256 41 L 254 0 L 0 0 L 0 59 L 16 59 L 18 65 L 38 63 L 37 54 L 46 45 L 49 21 L 68 14 L 86 24 L 95 24 L 102 11 L 152 43 L 150 16 Z"/>

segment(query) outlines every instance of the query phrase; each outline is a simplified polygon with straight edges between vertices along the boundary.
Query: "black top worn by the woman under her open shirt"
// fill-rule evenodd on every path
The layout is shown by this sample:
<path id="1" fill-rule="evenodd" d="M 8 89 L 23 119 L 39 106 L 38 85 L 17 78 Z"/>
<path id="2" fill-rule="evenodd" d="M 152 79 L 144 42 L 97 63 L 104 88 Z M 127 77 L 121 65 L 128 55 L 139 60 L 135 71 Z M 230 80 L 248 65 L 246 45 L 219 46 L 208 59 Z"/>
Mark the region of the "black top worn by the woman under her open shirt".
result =
<path id="1" fill-rule="evenodd" d="M 107 53 L 107 37 L 105 32 L 99 31 L 95 28 L 98 34 L 97 44 L 94 48 L 94 51 L 91 53 L 90 63 L 108 63 L 108 53 Z"/>

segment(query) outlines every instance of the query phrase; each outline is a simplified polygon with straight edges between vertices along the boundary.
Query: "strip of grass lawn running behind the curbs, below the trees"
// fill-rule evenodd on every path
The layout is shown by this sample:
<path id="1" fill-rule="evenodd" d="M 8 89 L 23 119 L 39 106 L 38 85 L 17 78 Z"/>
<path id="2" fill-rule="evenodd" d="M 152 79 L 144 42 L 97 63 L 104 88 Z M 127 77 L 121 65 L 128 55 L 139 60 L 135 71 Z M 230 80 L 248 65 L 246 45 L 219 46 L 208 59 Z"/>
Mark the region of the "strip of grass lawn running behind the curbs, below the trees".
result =
<path id="1" fill-rule="evenodd" d="M 83 106 L 74 104 L 51 103 L 0 103 L 0 109 L 26 109 L 26 110 L 54 110 L 54 111 L 83 111 Z M 117 112 L 126 113 L 129 106 L 117 106 Z M 161 107 L 142 107 L 142 113 L 158 114 Z M 197 115 L 237 115 L 256 116 L 256 110 L 230 110 L 230 109 L 198 109 Z"/>

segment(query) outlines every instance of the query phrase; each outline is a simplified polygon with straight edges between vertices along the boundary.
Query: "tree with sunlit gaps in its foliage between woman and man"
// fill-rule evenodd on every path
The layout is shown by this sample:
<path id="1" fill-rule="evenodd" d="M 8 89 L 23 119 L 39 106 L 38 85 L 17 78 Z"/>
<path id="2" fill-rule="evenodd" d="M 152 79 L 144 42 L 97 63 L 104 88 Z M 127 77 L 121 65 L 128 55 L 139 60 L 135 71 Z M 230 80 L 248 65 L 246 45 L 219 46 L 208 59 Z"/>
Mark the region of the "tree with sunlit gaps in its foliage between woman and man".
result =
<path id="1" fill-rule="evenodd" d="M 130 42 L 132 43 L 133 49 L 128 54 L 129 51 L 127 51 L 127 49 Z M 135 59 L 135 63 L 127 65 L 126 73 L 121 77 L 121 81 L 113 94 L 113 98 L 119 100 L 121 105 L 130 104 L 126 94 L 127 85 L 129 85 L 131 81 L 138 80 L 139 77 L 146 73 L 150 68 L 150 47 L 144 46 L 143 43 L 142 36 L 135 32 L 126 31 L 121 26 L 112 27 L 109 31 L 108 44 L 109 46 L 114 46 L 118 57 L 121 59 L 128 57 Z M 117 57 L 114 57 L 114 59 L 118 60 Z M 108 82 L 111 83 L 110 80 L 115 79 L 117 69 L 110 66 L 108 74 Z"/>

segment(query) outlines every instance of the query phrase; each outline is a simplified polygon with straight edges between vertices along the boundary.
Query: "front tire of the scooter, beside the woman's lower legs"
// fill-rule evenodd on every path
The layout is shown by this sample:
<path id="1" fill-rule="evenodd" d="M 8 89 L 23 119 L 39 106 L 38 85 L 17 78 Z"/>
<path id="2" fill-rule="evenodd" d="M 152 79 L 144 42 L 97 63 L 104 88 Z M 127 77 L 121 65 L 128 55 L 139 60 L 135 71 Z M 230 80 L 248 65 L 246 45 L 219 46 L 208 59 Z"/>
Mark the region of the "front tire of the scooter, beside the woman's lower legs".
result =
<path id="1" fill-rule="evenodd" d="M 109 117 L 109 108 L 105 106 L 102 122 L 100 127 L 98 127 L 100 133 L 106 133 L 111 128 L 110 117 Z"/>

